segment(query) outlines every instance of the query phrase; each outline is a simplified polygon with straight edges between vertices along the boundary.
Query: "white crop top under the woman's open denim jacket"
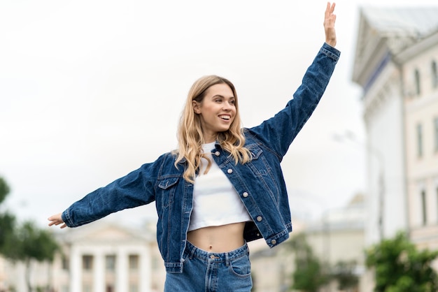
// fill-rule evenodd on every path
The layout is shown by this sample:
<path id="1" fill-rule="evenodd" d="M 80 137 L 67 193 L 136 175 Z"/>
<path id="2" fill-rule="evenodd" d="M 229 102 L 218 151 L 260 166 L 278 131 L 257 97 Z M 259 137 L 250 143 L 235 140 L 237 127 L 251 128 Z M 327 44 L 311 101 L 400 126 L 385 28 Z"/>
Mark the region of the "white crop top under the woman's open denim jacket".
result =
<path id="1" fill-rule="evenodd" d="M 188 231 L 252 221 L 239 194 L 211 157 L 215 144 L 208 143 L 202 147 L 211 160 L 211 167 L 209 173 L 204 174 L 209 161 L 203 158 L 193 186 L 193 210 Z"/>

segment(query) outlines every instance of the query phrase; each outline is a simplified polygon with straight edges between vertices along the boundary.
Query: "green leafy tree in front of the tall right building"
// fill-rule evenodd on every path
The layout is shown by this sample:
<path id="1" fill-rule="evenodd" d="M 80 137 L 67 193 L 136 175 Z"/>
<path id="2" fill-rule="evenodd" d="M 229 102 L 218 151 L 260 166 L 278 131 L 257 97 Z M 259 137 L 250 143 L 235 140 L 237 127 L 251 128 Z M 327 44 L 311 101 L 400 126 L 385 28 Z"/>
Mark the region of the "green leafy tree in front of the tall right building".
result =
<path id="1" fill-rule="evenodd" d="M 431 266 L 438 251 L 418 251 L 405 233 L 374 244 L 365 255 L 367 267 L 374 268 L 376 292 L 438 291 L 438 275 Z"/>

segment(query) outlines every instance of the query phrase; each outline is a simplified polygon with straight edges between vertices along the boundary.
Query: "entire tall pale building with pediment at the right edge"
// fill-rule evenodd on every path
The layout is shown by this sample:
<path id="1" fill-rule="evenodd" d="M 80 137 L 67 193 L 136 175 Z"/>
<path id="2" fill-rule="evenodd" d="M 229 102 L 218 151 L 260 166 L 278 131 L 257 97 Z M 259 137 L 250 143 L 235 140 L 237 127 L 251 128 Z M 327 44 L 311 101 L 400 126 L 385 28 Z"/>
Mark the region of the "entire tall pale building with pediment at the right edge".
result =
<path id="1" fill-rule="evenodd" d="M 352 79 L 363 89 L 367 244 L 406 231 L 438 247 L 438 6 L 362 8 Z"/>

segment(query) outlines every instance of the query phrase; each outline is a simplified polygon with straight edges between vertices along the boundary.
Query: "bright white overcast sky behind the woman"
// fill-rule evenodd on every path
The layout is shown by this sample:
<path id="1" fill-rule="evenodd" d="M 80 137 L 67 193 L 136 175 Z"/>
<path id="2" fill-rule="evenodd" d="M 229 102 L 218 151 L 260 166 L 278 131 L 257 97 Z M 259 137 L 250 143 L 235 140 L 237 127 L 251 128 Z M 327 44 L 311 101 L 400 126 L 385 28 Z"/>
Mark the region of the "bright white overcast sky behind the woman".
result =
<path id="1" fill-rule="evenodd" d="M 361 92 L 351 82 L 359 6 L 337 1 L 341 59 L 283 161 L 292 214 L 311 217 L 366 191 Z M 73 201 L 176 147 L 188 89 L 206 74 L 236 85 L 243 126 L 281 110 L 324 41 L 326 1 L 0 2 L 3 204 L 47 224 Z M 111 215 L 136 223 L 155 206 Z"/>

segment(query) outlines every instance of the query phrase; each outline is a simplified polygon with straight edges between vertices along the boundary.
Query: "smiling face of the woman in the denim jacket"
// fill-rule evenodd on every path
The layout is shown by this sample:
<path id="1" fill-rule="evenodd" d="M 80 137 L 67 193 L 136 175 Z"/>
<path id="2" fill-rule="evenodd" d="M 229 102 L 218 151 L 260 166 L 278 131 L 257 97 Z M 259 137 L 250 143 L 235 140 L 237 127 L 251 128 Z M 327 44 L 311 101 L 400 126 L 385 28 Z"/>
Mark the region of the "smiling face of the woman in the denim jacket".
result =
<path id="1" fill-rule="evenodd" d="M 200 103 L 193 101 L 195 113 L 201 119 L 205 143 L 214 142 L 218 132 L 229 129 L 236 117 L 235 101 L 232 89 L 225 83 L 209 87 Z"/>

